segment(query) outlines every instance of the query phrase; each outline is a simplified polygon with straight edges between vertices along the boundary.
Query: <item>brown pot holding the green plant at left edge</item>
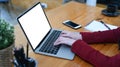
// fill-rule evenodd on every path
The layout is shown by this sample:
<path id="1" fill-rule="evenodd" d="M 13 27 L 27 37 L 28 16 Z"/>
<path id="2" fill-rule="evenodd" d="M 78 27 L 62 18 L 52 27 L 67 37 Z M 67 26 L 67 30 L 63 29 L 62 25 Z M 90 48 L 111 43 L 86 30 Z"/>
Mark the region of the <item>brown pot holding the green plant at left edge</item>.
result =
<path id="1" fill-rule="evenodd" d="M 14 44 L 11 46 L 0 50 L 0 67 L 12 67 L 12 63 L 10 62 L 13 59 L 13 50 Z"/>

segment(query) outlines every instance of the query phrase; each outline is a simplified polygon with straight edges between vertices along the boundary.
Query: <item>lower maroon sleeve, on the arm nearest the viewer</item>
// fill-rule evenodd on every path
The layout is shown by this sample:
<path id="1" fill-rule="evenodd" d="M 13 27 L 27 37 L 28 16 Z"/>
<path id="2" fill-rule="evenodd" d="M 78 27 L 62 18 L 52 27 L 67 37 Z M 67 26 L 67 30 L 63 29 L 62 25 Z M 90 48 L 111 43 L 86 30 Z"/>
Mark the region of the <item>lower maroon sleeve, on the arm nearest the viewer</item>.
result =
<path id="1" fill-rule="evenodd" d="M 120 67 L 120 54 L 114 57 L 105 56 L 83 40 L 77 40 L 71 50 L 95 67 Z"/>

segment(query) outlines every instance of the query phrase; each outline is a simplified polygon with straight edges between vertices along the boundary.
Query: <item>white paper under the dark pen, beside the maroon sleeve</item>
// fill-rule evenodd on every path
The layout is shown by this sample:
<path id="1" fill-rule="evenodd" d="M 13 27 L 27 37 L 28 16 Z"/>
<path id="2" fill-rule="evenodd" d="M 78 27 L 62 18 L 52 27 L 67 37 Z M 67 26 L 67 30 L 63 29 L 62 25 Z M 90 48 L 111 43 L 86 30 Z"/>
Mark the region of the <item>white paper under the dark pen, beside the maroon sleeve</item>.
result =
<path id="1" fill-rule="evenodd" d="M 111 30 L 112 29 L 116 29 L 118 28 L 117 26 L 114 25 L 110 25 L 110 24 L 106 24 Z M 105 31 L 105 30 L 109 30 L 104 24 L 102 24 L 99 21 L 92 21 L 90 24 L 88 24 L 87 26 L 84 27 L 85 29 L 89 30 L 89 31 Z"/>

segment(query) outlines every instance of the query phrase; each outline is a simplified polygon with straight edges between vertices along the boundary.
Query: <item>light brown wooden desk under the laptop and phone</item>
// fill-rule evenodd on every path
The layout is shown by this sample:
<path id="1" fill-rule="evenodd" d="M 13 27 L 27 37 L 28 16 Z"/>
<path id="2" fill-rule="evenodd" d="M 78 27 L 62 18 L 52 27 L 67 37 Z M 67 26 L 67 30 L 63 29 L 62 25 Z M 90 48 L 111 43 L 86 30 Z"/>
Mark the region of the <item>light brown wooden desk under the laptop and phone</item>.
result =
<path id="1" fill-rule="evenodd" d="M 109 24 L 120 26 L 120 16 L 118 17 L 107 17 L 101 14 L 100 7 L 90 7 L 85 4 L 80 4 L 77 2 L 70 2 L 61 7 L 55 8 L 47 12 L 47 17 L 50 21 L 50 24 L 53 28 L 69 30 L 69 31 L 87 31 L 84 28 L 73 30 L 62 24 L 65 20 L 73 20 L 74 22 L 81 24 L 83 27 L 90 21 L 98 18 L 102 18 L 103 21 Z M 27 43 L 27 40 L 21 31 L 19 25 L 15 26 L 15 35 L 16 35 L 16 46 L 19 44 Z M 117 44 L 94 44 L 93 48 L 99 50 L 105 55 L 113 56 L 119 51 L 117 50 Z M 74 60 L 65 60 L 55 57 L 44 56 L 40 54 L 35 54 L 31 48 L 29 51 L 29 56 L 36 59 L 38 62 L 38 67 L 93 67 L 91 64 L 85 62 L 78 56 L 75 56 Z"/>

